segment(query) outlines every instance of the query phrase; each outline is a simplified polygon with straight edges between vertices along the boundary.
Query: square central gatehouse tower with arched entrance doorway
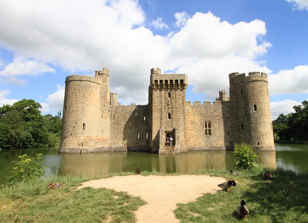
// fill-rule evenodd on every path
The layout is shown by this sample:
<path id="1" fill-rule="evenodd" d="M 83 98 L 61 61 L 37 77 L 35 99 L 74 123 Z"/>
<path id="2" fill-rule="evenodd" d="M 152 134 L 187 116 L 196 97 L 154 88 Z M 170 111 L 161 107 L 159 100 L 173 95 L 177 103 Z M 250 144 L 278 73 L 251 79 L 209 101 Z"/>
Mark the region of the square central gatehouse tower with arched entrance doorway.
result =
<path id="1" fill-rule="evenodd" d="M 161 69 L 151 69 L 149 110 L 152 148 L 160 153 L 185 150 L 185 91 L 187 74 L 162 74 Z M 172 147 L 167 137 L 172 136 Z M 182 152 L 183 152 L 182 151 Z"/>

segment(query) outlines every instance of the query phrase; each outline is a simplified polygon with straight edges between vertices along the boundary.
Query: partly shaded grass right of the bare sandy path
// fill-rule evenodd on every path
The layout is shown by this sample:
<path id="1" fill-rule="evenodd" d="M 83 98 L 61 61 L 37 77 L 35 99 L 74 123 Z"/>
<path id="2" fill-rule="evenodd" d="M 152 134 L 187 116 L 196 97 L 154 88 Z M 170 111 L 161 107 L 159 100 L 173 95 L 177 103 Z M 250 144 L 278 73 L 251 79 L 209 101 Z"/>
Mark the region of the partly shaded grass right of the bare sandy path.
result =
<path id="1" fill-rule="evenodd" d="M 264 180 L 266 170 L 271 170 L 274 180 Z M 236 213 L 242 199 L 249 206 L 249 222 L 308 222 L 307 174 L 255 168 L 239 175 L 227 171 L 211 175 L 234 179 L 237 185 L 229 193 L 204 194 L 195 202 L 178 204 L 174 212 L 181 222 L 245 222 Z"/>

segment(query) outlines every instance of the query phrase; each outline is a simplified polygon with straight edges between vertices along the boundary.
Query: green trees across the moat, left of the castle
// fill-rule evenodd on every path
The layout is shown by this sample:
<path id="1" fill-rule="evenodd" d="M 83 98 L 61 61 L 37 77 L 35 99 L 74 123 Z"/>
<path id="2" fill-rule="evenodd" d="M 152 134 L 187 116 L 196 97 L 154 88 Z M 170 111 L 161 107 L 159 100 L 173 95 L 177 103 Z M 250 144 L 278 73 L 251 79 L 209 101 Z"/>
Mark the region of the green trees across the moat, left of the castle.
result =
<path id="1" fill-rule="evenodd" d="M 33 99 L 0 107 L 0 149 L 59 146 L 62 111 L 42 115 L 41 108 Z"/>

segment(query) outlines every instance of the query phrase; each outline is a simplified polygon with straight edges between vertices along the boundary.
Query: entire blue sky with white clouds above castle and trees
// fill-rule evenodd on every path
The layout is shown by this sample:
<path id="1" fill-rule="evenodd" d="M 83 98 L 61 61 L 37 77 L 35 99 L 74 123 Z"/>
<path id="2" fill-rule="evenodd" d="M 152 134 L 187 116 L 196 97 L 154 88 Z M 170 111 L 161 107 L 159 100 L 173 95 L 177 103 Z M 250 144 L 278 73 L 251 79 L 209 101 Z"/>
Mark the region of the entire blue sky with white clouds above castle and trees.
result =
<path id="1" fill-rule="evenodd" d="M 147 104 L 153 67 L 187 73 L 191 101 L 265 72 L 273 119 L 308 98 L 308 0 L 1 1 L 0 20 L 1 105 L 56 114 L 66 76 L 102 68 L 121 104 Z"/>

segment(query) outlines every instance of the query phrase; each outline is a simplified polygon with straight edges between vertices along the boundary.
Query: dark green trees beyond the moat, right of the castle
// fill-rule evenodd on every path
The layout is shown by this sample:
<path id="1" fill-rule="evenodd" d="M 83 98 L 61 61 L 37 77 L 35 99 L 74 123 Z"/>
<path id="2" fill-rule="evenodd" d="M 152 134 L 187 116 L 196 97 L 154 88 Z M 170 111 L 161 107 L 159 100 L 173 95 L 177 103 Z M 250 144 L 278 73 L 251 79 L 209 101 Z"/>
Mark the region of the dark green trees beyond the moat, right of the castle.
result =
<path id="1" fill-rule="evenodd" d="M 308 102 L 293 106 L 294 113 L 280 114 L 273 121 L 275 140 L 308 140 Z"/>

